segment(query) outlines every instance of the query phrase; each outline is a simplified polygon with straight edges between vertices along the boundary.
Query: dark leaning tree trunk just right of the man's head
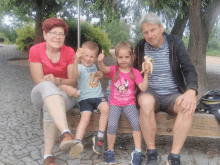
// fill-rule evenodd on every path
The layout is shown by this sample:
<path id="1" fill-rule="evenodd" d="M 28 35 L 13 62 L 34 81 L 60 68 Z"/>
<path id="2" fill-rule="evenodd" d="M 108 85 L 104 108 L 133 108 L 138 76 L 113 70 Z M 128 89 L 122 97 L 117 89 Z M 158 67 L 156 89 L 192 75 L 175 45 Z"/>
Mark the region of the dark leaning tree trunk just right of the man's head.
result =
<path id="1" fill-rule="evenodd" d="M 188 14 L 184 15 L 183 18 L 181 18 L 181 15 L 178 14 L 170 34 L 174 34 L 174 35 L 182 38 L 183 37 L 183 32 L 184 32 L 185 27 L 186 27 L 186 23 L 188 21 L 188 18 L 189 18 Z"/>

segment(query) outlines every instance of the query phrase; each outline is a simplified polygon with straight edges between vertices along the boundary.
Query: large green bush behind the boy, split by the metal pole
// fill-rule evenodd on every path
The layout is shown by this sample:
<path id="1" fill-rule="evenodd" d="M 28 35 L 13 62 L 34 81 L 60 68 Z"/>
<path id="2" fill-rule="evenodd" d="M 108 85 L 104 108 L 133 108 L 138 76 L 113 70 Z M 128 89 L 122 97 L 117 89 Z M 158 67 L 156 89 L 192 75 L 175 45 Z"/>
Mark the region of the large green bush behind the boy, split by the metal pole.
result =
<path id="1" fill-rule="evenodd" d="M 66 36 L 65 44 L 77 49 L 77 22 L 74 20 L 67 20 L 69 30 Z M 86 41 L 96 42 L 99 46 L 99 52 L 105 51 L 105 55 L 110 54 L 111 42 L 108 38 L 108 33 L 100 28 L 94 27 L 88 22 L 82 22 L 81 28 L 81 45 Z"/>

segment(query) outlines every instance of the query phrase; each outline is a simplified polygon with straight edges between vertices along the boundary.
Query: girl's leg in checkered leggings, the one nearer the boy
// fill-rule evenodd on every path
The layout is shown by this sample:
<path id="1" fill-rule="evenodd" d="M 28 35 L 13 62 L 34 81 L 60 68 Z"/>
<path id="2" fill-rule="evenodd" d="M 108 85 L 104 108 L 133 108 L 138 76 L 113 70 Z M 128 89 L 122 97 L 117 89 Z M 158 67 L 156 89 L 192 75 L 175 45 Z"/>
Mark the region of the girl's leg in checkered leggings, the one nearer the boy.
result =
<path id="1" fill-rule="evenodd" d="M 108 150 L 114 150 L 116 132 L 118 129 L 118 121 L 120 116 L 121 116 L 121 107 L 110 105 L 108 128 L 107 128 Z"/>

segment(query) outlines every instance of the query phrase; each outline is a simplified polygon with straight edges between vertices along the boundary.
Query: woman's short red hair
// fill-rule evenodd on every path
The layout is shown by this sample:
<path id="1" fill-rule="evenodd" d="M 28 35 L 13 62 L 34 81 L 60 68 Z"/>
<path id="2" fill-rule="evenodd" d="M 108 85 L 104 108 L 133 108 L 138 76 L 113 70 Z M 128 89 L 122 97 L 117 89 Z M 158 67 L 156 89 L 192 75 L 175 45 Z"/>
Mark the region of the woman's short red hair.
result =
<path id="1" fill-rule="evenodd" d="M 48 18 L 43 22 L 43 31 L 48 33 L 54 27 L 62 27 L 64 29 L 64 34 L 68 32 L 68 25 L 61 18 Z"/>

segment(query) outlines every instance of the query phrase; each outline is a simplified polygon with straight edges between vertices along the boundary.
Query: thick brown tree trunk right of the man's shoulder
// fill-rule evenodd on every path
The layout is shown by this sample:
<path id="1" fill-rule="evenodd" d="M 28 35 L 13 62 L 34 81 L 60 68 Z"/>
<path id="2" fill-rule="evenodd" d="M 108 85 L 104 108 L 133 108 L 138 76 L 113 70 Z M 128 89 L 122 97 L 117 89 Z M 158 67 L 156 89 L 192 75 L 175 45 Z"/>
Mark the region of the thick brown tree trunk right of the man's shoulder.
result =
<path id="1" fill-rule="evenodd" d="M 198 74 L 198 97 L 200 97 L 207 92 L 206 47 L 208 44 L 207 28 L 202 19 L 200 0 L 190 0 L 189 21 L 189 54 Z"/>

